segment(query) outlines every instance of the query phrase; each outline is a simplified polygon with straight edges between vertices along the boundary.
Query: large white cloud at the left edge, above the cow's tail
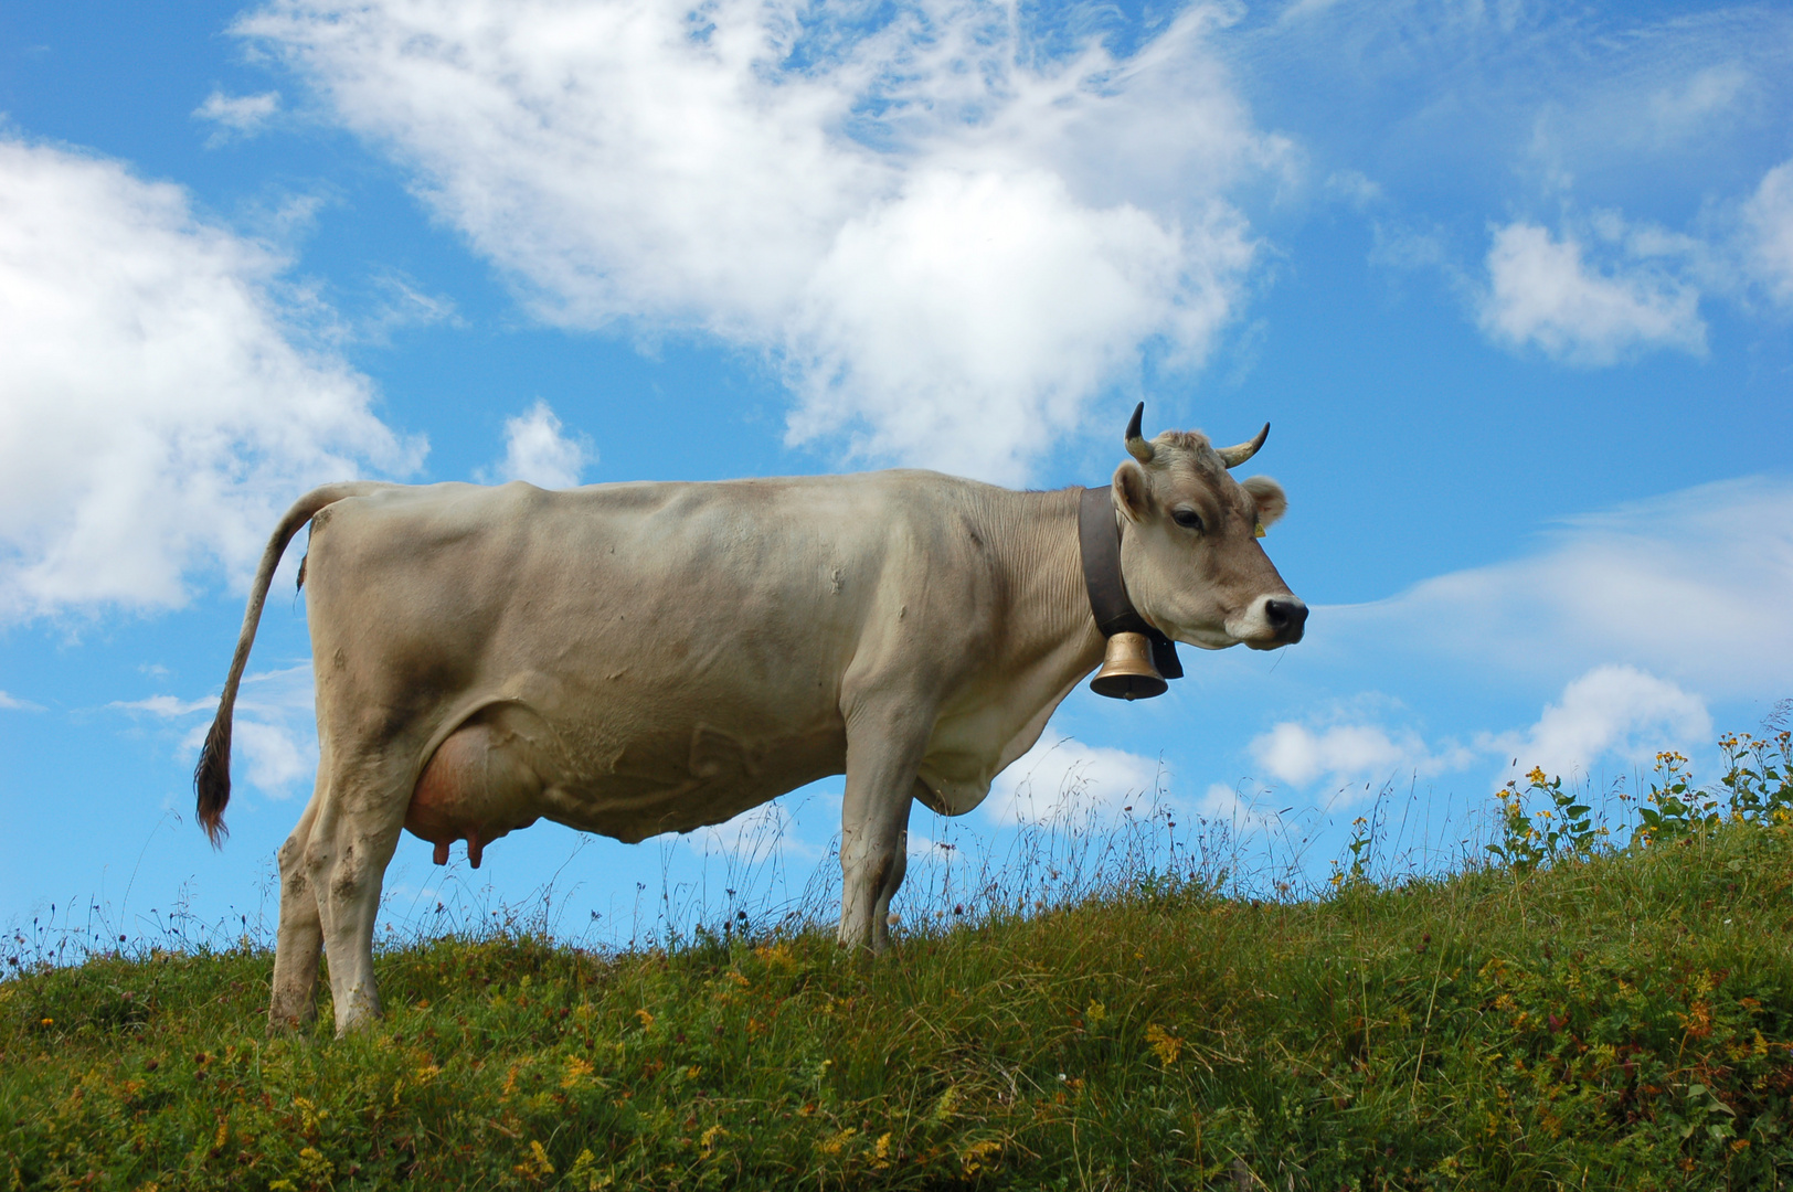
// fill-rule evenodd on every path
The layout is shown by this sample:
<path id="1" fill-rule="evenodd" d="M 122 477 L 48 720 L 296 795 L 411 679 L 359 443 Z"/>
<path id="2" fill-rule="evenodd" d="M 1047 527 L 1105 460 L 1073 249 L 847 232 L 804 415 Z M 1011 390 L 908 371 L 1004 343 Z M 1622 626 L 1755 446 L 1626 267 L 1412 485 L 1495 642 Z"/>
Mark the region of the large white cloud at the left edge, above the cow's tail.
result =
<path id="1" fill-rule="evenodd" d="M 305 488 L 416 466 L 369 382 L 296 341 L 283 263 L 176 186 L 0 140 L 0 620 L 246 583 Z"/>

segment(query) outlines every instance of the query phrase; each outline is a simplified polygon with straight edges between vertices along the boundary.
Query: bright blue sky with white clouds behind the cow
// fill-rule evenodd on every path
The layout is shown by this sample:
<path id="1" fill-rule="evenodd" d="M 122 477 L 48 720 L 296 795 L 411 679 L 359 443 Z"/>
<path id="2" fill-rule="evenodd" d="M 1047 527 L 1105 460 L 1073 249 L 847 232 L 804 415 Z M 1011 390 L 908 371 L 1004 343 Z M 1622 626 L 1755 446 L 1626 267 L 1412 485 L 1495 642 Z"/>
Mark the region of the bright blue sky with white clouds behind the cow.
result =
<path id="1" fill-rule="evenodd" d="M 188 774 L 273 518 L 348 475 L 1049 488 L 1137 400 L 1269 419 L 1307 642 L 1079 692 L 923 855 L 1162 787 L 1323 871 L 1386 783 L 1709 771 L 1793 695 L 1779 5 L 11 4 L 0 113 L 0 921 L 271 907 L 301 602 L 222 853 Z M 762 821 L 796 885 L 837 794 Z M 559 875 L 624 930 L 741 841 L 407 839 L 391 914 Z"/>

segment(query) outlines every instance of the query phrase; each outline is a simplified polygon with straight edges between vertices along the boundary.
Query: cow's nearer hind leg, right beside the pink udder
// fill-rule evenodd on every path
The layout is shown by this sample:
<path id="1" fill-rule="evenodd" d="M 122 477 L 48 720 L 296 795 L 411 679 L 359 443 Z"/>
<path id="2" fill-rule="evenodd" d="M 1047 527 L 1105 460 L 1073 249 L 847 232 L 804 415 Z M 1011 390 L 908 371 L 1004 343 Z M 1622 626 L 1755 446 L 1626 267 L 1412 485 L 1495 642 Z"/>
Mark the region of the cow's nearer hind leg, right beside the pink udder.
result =
<path id="1" fill-rule="evenodd" d="M 330 776 L 330 794 L 312 826 L 307 877 L 317 896 L 339 1036 L 380 1016 L 373 923 L 411 801 L 411 778 L 409 762 L 393 758 L 344 767 Z"/>

